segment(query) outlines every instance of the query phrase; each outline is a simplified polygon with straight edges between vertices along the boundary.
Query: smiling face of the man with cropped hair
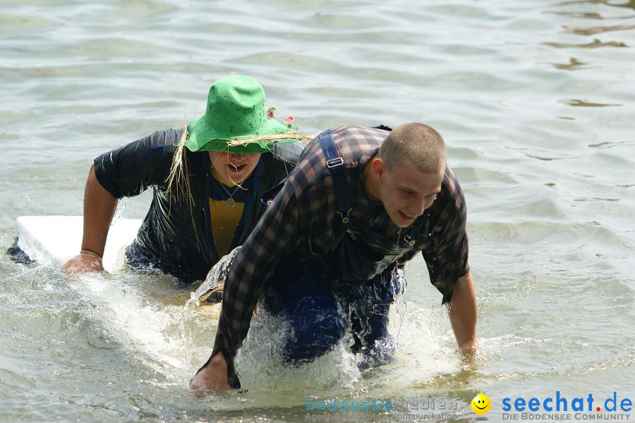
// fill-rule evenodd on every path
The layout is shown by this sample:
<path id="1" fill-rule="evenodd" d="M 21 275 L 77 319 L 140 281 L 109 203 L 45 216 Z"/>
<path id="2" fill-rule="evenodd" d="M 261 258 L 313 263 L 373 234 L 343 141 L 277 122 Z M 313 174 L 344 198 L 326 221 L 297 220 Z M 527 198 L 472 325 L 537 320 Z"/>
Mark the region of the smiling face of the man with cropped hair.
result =
<path id="1" fill-rule="evenodd" d="M 406 227 L 423 215 L 441 192 L 444 169 L 437 173 L 425 173 L 406 160 L 393 169 L 387 169 L 380 158 L 373 161 L 373 174 L 378 177 L 380 200 L 392 222 Z"/>

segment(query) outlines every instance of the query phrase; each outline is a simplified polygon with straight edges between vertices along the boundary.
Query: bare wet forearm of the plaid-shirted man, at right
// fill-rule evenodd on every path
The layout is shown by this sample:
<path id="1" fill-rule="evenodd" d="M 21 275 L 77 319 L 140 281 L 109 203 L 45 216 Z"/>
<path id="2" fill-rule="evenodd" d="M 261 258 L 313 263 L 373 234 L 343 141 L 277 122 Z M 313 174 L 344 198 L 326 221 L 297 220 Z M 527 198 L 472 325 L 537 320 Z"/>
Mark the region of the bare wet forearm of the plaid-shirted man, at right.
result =
<path id="1" fill-rule="evenodd" d="M 469 271 L 454 286 L 449 317 L 461 353 L 465 356 L 476 354 L 476 294 Z"/>

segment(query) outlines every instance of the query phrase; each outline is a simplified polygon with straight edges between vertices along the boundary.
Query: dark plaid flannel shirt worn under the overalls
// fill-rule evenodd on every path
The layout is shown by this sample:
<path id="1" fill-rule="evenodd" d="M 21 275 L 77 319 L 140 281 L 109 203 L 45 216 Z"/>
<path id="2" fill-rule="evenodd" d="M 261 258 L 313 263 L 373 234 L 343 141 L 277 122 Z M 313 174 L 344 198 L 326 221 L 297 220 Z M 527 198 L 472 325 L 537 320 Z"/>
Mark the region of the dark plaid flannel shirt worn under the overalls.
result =
<path id="1" fill-rule="evenodd" d="M 351 216 L 387 239 L 397 239 L 401 228 L 392 223 L 383 205 L 368 198 L 363 186 L 364 166 L 388 132 L 361 126 L 341 126 L 331 131 L 346 166 Z M 226 280 L 212 356 L 222 352 L 230 373 L 253 310 L 277 263 L 289 254 L 325 256 L 337 242 L 341 218 L 336 211 L 333 179 L 315 138 L 241 247 Z M 449 167 L 441 193 L 422 218 L 425 222 L 416 243 L 403 261 L 421 251 L 430 281 L 443 294 L 442 302 L 449 302 L 456 280 L 468 272 L 466 205 Z"/>

